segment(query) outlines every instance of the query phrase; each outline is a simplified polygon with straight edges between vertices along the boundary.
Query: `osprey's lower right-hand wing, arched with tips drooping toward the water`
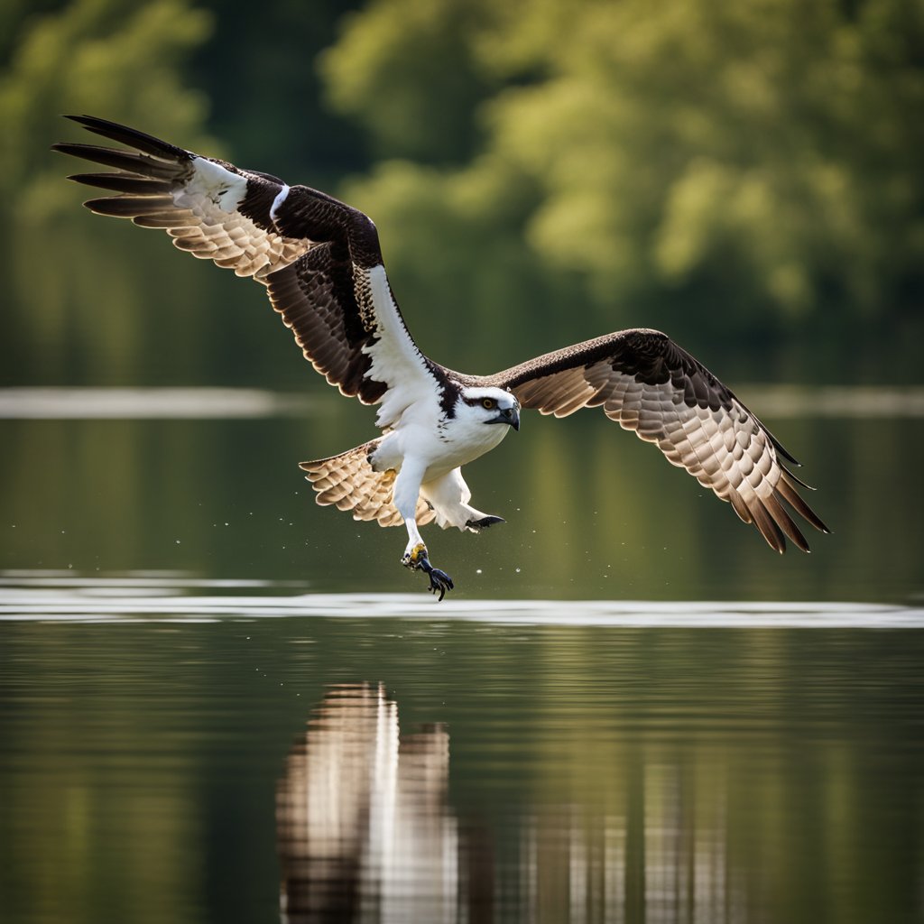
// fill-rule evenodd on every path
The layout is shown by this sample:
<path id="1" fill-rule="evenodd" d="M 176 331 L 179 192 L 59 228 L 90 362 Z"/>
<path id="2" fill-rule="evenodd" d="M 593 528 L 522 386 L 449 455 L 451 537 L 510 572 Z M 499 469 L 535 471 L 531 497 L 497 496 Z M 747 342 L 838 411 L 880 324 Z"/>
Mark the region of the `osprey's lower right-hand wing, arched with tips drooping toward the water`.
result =
<path id="1" fill-rule="evenodd" d="M 828 528 L 799 496 L 783 459 L 796 465 L 747 407 L 666 334 L 628 330 L 568 346 L 491 376 L 522 407 L 565 417 L 580 407 L 606 416 L 686 468 L 738 517 L 784 552 L 784 536 L 808 552 L 785 501 L 816 529 Z"/>

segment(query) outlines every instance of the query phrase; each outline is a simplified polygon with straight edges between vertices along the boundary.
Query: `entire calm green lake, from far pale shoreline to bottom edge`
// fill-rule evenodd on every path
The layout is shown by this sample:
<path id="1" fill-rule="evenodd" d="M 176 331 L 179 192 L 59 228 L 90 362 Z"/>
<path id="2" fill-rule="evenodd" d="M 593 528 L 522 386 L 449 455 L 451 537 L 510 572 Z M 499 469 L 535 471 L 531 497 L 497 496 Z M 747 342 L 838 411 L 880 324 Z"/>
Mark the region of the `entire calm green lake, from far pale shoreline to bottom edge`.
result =
<path id="1" fill-rule="evenodd" d="M 804 397 L 810 556 L 529 418 L 436 605 L 294 467 L 361 408 L 0 396 L 0 920 L 924 919 L 924 426 Z"/>

